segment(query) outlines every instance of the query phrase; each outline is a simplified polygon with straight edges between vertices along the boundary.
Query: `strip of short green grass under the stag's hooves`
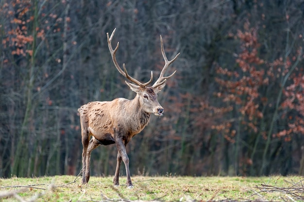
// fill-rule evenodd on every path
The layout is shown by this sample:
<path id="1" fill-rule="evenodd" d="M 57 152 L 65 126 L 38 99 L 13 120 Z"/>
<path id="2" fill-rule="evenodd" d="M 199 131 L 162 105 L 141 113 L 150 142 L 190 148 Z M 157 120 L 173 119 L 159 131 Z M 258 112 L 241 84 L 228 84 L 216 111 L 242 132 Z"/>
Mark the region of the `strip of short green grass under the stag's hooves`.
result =
<path id="1" fill-rule="evenodd" d="M 125 187 L 124 177 L 120 177 L 118 187 L 112 185 L 112 180 L 91 177 L 87 185 L 81 185 L 81 179 L 75 176 L 0 179 L 0 202 L 300 201 L 292 190 L 300 191 L 297 195 L 304 197 L 301 176 L 134 176 L 132 189 Z"/>

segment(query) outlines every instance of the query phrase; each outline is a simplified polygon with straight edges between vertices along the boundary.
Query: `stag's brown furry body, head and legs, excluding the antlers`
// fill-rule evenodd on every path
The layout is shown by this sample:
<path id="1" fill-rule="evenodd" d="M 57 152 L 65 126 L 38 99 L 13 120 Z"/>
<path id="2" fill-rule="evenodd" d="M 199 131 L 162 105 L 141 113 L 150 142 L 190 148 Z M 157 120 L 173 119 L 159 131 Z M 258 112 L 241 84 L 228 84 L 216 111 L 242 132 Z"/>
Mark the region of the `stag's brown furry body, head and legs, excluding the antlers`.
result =
<path id="1" fill-rule="evenodd" d="M 162 87 L 157 87 L 157 90 Z M 125 146 L 134 135 L 148 125 L 151 113 L 162 116 L 162 113 L 158 114 L 158 110 L 163 110 L 152 87 L 138 88 L 137 90 L 137 95 L 133 100 L 117 98 L 113 101 L 92 101 L 78 109 L 84 147 L 83 184 L 89 181 L 92 150 L 100 145 L 116 144 L 118 164 L 113 183 L 119 185 L 119 168 L 120 162 L 123 160 L 127 172 L 127 185 L 132 186 L 129 158 Z M 91 136 L 93 137 L 91 138 Z"/>

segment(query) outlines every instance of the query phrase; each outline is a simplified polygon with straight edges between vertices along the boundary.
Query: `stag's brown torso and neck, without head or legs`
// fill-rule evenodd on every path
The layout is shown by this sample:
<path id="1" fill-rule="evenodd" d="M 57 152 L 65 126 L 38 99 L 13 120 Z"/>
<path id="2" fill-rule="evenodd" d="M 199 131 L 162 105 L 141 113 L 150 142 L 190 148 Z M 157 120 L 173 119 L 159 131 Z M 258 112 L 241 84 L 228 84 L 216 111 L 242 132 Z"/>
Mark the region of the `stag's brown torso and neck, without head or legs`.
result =
<path id="1" fill-rule="evenodd" d="M 84 132 L 93 135 L 101 145 L 109 145 L 115 143 L 114 128 L 119 127 L 120 131 L 124 131 L 123 139 L 129 142 L 148 125 L 151 114 L 144 111 L 134 113 L 134 109 L 140 109 L 137 99 L 117 98 L 113 101 L 89 102 L 78 111 Z"/>

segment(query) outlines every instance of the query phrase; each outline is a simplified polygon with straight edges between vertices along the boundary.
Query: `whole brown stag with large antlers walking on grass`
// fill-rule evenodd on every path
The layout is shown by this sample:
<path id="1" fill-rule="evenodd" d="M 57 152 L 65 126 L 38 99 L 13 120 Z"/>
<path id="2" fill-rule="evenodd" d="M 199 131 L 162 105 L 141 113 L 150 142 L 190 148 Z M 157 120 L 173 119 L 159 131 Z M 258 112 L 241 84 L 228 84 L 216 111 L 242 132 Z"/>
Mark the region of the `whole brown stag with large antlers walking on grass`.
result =
<path id="1" fill-rule="evenodd" d="M 108 47 L 112 60 L 118 72 L 134 83 L 125 81 L 130 89 L 136 93 L 136 96 L 133 100 L 116 98 L 112 101 L 92 101 L 78 109 L 83 144 L 82 184 L 89 182 L 91 152 L 100 145 L 116 144 L 118 154 L 113 185 L 119 185 L 119 169 L 121 161 L 123 161 L 126 169 L 126 185 L 128 188 L 132 188 L 133 184 L 130 177 L 129 157 L 126 152 L 126 145 L 133 136 L 140 133 L 148 125 L 151 114 L 159 117 L 164 115 L 164 108 L 157 101 L 157 93 L 165 87 L 167 79 L 175 74 L 176 70 L 171 75 L 164 76 L 169 65 L 176 60 L 180 53 L 169 61 L 165 54 L 163 39 L 160 35 L 161 52 L 165 65 L 160 72 L 159 78 L 149 87 L 148 85 L 153 80 L 152 71 L 150 80 L 146 83 L 141 83 L 128 74 L 125 64 L 123 64 L 123 70 L 119 67 L 116 60 L 119 42 L 114 50 L 112 48 L 112 39 L 115 31 L 116 28 L 110 37 L 109 33 L 107 33 Z"/>

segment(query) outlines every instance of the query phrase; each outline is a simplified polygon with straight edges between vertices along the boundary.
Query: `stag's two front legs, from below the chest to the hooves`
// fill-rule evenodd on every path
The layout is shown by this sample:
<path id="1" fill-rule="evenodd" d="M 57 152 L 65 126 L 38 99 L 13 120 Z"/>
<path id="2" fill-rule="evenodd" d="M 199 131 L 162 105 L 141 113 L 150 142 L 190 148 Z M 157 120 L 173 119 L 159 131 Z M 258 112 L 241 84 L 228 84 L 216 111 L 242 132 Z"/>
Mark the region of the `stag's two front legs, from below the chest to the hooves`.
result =
<path id="1" fill-rule="evenodd" d="M 120 163 L 121 163 L 121 160 L 122 160 L 125 167 L 126 167 L 127 187 L 132 188 L 133 185 L 132 185 L 132 181 L 131 181 L 131 177 L 130 177 L 129 157 L 127 155 L 126 147 L 125 147 L 125 144 L 123 143 L 122 139 L 117 139 L 116 140 L 116 147 L 117 147 L 117 150 L 118 150 L 118 155 L 117 155 L 116 171 L 115 171 L 115 176 L 114 176 L 114 185 L 119 184 L 118 175 L 119 175 Z"/>

